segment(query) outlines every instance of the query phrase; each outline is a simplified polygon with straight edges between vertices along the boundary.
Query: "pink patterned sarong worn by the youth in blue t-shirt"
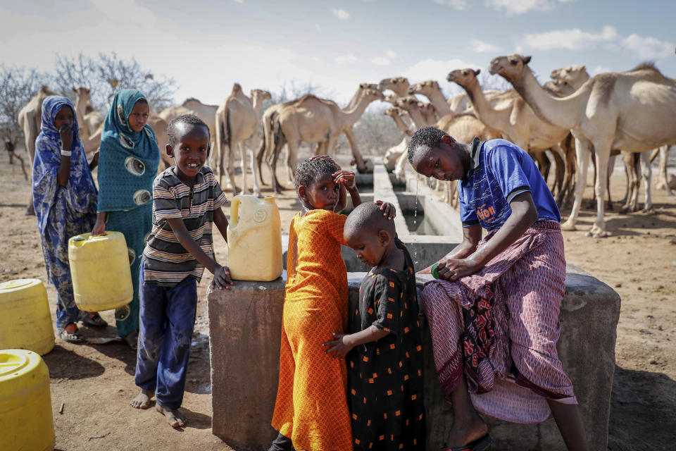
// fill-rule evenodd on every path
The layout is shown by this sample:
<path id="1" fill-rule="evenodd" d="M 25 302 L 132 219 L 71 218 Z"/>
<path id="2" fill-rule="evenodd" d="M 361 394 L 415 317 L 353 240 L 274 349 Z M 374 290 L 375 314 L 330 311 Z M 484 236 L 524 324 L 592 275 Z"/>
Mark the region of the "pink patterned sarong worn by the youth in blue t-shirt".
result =
<path id="1" fill-rule="evenodd" d="M 465 376 L 475 408 L 498 419 L 538 423 L 551 417 L 547 399 L 577 404 L 556 352 L 564 280 L 561 226 L 543 221 L 478 273 L 425 284 L 444 398 Z"/>

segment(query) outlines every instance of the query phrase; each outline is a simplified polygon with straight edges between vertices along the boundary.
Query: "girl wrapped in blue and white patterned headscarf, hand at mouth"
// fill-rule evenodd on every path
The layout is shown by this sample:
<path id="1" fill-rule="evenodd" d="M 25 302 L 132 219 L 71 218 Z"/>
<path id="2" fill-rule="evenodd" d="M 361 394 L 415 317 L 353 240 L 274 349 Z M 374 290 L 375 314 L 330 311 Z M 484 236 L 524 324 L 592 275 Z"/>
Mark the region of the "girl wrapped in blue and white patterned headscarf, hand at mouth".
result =
<path id="1" fill-rule="evenodd" d="M 80 141 L 75 108 L 65 97 L 49 96 L 42 104 L 42 132 L 35 140 L 33 206 L 40 231 L 47 277 L 56 287 L 56 328 L 68 342 L 82 342 L 77 321 L 107 326 L 99 314 L 77 309 L 68 265 L 68 239 L 92 230 L 96 220 L 96 185 L 92 163 Z"/>

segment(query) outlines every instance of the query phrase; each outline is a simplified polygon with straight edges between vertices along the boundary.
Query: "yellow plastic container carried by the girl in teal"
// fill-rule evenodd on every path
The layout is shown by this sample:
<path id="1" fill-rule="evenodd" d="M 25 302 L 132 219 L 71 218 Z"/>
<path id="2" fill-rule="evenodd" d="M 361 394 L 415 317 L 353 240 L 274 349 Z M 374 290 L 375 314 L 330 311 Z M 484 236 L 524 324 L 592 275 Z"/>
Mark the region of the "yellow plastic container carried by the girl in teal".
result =
<path id="1" fill-rule="evenodd" d="M 82 311 L 119 309 L 132 301 L 134 286 L 125 235 L 83 233 L 68 240 L 75 304 Z"/>

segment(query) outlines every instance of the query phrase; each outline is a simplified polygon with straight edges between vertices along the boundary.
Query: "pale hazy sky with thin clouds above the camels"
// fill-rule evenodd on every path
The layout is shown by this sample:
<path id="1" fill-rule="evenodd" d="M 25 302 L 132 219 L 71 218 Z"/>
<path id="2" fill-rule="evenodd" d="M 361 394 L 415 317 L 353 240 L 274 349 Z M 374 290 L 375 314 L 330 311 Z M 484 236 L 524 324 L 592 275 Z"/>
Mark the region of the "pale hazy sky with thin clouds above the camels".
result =
<path id="1" fill-rule="evenodd" d="M 220 104 L 245 92 L 319 85 L 346 103 L 360 82 L 446 82 L 520 53 L 541 82 L 655 61 L 676 78 L 675 1 L 658 0 L 73 0 L 0 3 L 0 63 L 54 68 L 55 55 L 117 52 L 177 82 L 175 100 Z"/>

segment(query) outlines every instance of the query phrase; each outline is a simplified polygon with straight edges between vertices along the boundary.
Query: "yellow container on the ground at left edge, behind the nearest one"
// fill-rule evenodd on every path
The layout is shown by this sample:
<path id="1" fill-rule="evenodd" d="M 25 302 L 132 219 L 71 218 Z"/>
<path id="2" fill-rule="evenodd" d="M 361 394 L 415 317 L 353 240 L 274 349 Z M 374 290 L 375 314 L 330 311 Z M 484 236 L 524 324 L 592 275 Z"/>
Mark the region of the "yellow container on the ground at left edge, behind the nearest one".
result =
<path id="1" fill-rule="evenodd" d="M 0 283 L 0 350 L 16 348 L 44 355 L 53 347 L 54 329 L 42 282 L 17 279 Z"/>

